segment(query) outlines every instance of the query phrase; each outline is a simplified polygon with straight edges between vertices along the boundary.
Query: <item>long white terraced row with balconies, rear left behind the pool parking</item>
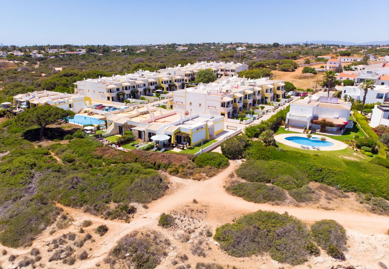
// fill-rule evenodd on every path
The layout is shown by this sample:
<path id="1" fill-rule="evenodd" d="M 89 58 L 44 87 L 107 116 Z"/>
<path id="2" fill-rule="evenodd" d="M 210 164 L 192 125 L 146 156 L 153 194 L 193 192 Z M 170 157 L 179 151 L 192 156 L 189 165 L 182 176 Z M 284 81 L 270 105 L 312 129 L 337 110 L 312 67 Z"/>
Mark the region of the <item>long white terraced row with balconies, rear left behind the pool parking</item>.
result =
<path id="1" fill-rule="evenodd" d="M 154 92 L 175 91 L 182 88 L 184 76 L 139 70 L 133 74 L 112 75 L 98 79 L 84 79 L 74 83 L 74 91 L 94 101 L 124 101 Z"/>

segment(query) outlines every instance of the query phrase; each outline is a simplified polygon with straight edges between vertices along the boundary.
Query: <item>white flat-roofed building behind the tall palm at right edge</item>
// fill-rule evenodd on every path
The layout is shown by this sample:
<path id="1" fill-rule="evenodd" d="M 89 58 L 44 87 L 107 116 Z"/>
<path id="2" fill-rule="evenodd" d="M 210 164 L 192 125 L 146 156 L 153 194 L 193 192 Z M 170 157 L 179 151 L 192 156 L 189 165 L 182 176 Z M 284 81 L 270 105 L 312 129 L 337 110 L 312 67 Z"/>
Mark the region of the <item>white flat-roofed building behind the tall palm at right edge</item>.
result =
<path id="1" fill-rule="evenodd" d="M 342 88 L 342 99 L 345 94 L 354 98 L 355 100 L 363 100 L 364 91 L 358 86 L 344 86 Z M 368 90 L 366 94 L 366 103 L 382 103 L 385 98 L 389 97 L 389 87 L 376 85 L 373 90 Z"/>

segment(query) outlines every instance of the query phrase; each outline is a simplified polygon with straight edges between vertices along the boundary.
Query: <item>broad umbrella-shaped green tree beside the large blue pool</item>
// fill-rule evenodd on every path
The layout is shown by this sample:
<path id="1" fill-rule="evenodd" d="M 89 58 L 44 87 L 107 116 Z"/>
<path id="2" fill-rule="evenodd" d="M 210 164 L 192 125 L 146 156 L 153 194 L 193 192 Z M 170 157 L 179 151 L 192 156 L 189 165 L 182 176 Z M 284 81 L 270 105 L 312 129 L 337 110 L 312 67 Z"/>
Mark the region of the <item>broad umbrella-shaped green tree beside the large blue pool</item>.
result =
<path id="1" fill-rule="evenodd" d="M 15 118 L 16 125 L 20 127 L 30 127 L 38 125 L 40 127 L 40 137 L 44 135 L 44 129 L 49 124 L 62 124 L 73 118 L 75 113 L 59 107 L 43 105 L 25 110 Z"/>

